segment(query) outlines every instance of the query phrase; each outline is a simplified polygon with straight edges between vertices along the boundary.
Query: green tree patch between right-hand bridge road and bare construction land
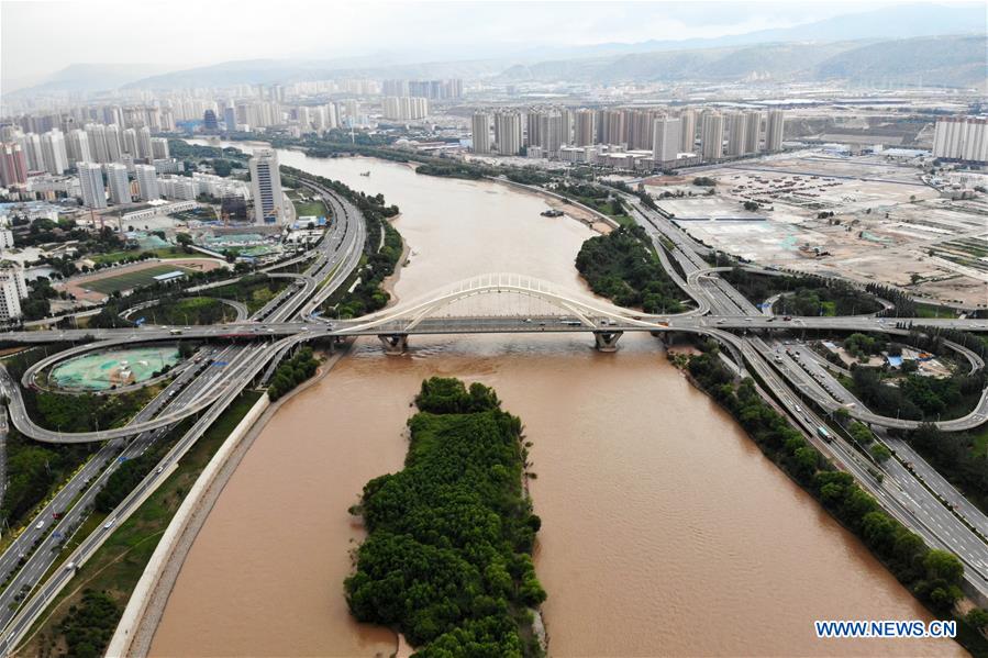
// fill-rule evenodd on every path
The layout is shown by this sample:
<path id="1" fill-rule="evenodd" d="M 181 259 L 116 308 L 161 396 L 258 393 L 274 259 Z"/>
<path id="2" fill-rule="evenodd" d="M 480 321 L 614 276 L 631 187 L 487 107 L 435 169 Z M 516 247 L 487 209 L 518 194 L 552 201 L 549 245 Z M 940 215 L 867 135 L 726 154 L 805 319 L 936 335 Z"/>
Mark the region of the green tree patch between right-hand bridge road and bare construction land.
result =
<path id="1" fill-rule="evenodd" d="M 740 267 L 721 276 L 753 304 L 784 293 L 774 308 L 780 315 L 854 315 L 881 310 L 873 295 L 835 279 L 811 275 L 767 276 Z"/>

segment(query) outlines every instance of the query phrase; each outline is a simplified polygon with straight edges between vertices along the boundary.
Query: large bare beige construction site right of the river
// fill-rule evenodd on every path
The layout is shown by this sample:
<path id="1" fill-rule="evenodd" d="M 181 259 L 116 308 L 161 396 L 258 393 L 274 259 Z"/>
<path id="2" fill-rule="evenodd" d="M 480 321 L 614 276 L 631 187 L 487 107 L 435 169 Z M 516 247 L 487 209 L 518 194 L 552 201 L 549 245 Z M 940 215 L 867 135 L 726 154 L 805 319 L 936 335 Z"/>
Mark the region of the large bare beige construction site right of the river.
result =
<path id="1" fill-rule="evenodd" d="M 734 256 L 988 305 L 986 196 L 953 198 L 908 158 L 800 150 L 644 185 L 679 226 Z"/>

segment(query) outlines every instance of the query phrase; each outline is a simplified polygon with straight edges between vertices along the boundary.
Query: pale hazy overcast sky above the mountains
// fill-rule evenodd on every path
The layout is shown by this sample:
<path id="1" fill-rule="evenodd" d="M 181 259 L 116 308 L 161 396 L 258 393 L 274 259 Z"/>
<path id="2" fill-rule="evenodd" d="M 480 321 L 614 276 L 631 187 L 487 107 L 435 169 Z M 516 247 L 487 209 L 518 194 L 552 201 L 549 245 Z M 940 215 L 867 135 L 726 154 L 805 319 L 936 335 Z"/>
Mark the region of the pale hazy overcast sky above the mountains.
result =
<path id="1" fill-rule="evenodd" d="M 0 0 L 3 87 L 70 64 L 170 70 L 232 59 L 414 49 L 447 59 L 495 47 L 715 37 L 889 2 L 378 2 L 373 0 Z M 440 53 L 440 51 L 444 51 Z"/>

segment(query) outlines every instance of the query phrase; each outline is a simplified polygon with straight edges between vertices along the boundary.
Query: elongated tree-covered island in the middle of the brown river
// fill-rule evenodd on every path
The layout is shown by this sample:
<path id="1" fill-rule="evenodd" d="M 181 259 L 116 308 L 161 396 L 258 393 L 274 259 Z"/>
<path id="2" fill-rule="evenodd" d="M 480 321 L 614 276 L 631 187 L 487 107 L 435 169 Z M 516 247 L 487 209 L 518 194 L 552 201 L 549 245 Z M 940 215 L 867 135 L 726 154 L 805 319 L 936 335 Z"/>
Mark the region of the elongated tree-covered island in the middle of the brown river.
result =
<path id="1" fill-rule="evenodd" d="M 492 389 L 432 378 L 415 398 L 404 469 L 370 480 L 368 536 L 346 579 L 360 622 L 400 631 L 419 656 L 537 656 L 528 607 L 545 600 L 522 490 L 521 421 Z"/>

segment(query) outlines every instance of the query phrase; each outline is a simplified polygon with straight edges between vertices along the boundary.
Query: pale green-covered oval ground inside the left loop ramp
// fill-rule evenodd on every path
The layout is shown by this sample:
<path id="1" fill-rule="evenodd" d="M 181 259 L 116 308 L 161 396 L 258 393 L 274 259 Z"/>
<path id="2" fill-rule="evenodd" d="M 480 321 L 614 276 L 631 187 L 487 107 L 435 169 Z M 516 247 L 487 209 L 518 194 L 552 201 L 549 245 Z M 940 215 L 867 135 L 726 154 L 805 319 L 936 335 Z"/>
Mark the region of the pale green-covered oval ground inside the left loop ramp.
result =
<path id="1" fill-rule="evenodd" d="M 106 391 L 146 381 L 155 372 L 174 367 L 178 359 L 175 346 L 100 352 L 55 366 L 48 379 L 62 389 Z"/>

